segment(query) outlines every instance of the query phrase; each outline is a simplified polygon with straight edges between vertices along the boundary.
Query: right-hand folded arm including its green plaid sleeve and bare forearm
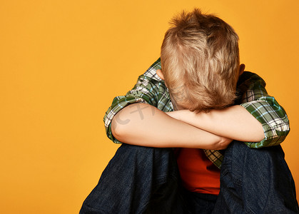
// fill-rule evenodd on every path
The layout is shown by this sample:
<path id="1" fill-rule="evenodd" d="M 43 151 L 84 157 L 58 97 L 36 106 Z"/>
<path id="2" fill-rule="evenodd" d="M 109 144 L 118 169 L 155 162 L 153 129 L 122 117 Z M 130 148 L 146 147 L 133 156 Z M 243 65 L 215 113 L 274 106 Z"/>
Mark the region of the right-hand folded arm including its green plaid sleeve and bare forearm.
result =
<path id="1" fill-rule="evenodd" d="M 168 115 L 216 135 L 243 141 L 250 148 L 282 143 L 290 131 L 288 116 L 275 98 L 268 95 L 265 81 L 246 71 L 238 83 L 243 94 L 240 105 L 209 113 L 183 110 Z"/>

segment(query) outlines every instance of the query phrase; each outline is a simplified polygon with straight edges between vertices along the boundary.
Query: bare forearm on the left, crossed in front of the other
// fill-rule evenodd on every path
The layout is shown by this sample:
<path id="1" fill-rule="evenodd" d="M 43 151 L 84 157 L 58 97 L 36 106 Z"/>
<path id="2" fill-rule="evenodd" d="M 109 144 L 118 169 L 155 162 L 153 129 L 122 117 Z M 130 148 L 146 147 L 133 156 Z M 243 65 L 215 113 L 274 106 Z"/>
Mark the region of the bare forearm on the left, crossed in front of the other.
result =
<path id="1" fill-rule="evenodd" d="M 111 123 L 113 136 L 123 143 L 151 147 L 223 149 L 228 139 L 171 118 L 145 103 L 119 111 Z"/>

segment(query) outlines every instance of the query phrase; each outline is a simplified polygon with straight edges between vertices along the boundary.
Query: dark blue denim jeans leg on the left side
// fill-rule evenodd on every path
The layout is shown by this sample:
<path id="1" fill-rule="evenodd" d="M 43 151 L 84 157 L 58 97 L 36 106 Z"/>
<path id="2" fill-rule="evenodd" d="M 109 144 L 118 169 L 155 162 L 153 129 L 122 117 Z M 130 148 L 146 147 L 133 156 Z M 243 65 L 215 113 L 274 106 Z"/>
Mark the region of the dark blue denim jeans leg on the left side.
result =
<path id="1" fill-rule="evenodd" d="M 86 200 L 83 213 L 183 213 L 173 150 L 123 143 Z"/>

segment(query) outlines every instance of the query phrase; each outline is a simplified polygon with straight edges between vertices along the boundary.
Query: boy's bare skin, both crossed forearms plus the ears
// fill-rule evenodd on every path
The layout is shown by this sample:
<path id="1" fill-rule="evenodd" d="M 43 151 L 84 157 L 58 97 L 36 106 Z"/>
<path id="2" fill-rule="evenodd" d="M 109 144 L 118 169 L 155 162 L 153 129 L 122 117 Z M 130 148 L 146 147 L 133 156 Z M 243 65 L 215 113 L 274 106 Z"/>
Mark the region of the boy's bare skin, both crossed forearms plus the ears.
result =
<path id="1" fill-rule="evenodd" d="M 241 64 L 239 74 L 244 68 Z M 161 70 L 157 70 L 157 74 L 164 79 Z M 164 113 L 146 103 L 123 108 L 111 123 L 113 136 L 123 143 L 138 146 L 215 150 L 225 149 L 232 139 L 259 142 L 265 137 L 260 122 L 243 106 L 193 113 L 188 111 L 188 106 L 173 100 L 172 103 L 178 111 Z"/>

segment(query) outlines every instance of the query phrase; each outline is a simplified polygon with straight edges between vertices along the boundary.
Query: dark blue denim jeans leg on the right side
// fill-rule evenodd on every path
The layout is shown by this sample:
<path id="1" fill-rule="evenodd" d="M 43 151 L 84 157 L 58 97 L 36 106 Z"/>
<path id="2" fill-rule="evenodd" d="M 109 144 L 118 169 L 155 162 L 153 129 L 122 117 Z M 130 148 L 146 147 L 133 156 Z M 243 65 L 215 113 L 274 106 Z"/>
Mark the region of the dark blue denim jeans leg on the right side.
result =
<path id="1" fill-rule="evenodd" d="M 221 191 L 213 213 L 298 213 L 295 183 L 281 146 L 225 151 Z"/>

